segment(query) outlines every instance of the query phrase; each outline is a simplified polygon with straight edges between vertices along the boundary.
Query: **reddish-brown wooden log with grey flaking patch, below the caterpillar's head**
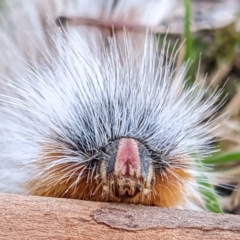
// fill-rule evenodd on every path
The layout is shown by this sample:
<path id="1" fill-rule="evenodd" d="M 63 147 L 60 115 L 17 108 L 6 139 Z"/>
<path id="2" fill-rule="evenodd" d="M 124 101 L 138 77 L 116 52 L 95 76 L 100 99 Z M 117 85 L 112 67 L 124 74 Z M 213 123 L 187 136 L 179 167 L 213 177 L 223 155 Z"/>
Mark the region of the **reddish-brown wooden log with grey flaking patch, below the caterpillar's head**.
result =
<path id="1" fill-rule="evenodd" d="M 240 239 L 240 216 L 0 194 L 0 239 Z"/>

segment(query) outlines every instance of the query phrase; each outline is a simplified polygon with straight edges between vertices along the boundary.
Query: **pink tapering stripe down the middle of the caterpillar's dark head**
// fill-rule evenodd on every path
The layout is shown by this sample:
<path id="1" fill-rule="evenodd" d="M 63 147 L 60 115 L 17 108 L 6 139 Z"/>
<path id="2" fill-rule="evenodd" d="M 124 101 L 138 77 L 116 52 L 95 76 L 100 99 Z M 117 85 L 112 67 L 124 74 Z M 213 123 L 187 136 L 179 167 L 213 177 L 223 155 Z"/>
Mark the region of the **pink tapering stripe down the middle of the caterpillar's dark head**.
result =
<path id="1" fill-rule="evenodd" d="M 140 176 L 140 157 L 137 141 L 132 138 L 122 138 L 119 142 L 115 174 Z"/>

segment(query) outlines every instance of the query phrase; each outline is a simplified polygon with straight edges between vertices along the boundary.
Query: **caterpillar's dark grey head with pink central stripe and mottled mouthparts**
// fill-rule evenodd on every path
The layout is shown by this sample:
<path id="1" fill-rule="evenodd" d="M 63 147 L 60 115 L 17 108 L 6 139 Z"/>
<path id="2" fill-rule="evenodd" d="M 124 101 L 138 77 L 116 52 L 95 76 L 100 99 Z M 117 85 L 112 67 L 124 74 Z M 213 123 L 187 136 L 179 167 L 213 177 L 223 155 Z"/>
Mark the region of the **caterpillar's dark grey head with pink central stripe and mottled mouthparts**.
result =
<path id="1" fill-rule="evenodd" d="M 100 174 L 105 191 L 119 201 L 148 193 L 155 175 L 147 148 L 131 138 L 121 138 L 105 148 Z M 109 181 L 109 178 L 111 179 Z"/>

